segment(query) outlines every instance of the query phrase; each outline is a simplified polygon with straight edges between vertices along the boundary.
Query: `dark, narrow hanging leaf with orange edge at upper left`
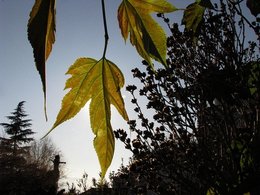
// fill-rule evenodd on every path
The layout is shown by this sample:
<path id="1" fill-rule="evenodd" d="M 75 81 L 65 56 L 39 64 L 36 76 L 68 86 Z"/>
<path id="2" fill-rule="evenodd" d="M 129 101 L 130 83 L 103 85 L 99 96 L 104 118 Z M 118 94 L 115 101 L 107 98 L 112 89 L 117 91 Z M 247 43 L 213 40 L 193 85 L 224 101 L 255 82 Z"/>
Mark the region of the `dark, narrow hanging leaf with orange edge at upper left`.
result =
<path id="1" fill-rule="evenodd" d="M 28 21 L 28 39 L 41 76 L 46 107 L 45 62 L 55 42 L 55 0 L 35 1 Z"/>

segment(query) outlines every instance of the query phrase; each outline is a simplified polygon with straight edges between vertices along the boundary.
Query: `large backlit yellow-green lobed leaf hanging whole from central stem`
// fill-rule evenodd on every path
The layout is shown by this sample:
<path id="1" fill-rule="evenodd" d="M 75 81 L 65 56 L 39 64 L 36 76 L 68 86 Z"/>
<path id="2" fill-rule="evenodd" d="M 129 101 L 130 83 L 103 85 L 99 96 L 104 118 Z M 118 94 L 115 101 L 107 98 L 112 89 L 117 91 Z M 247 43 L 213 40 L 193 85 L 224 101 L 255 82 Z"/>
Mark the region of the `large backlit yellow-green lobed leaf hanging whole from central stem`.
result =
<path id="1" fill-rule="evenodd" d="M 110 123 L 110 104 L 113 104 L 121 116 L 128 120 L 120 93 L 120 88 L 124 85 L 123 74 L 115 64 L 104 58 L 99 61 L 79 58 L 71 65 L 67 74 L 72 75 L 65 86 L 65 89 L 70 88 L 70 91 L 64 96 L 62 107 L 50 131 L 74 117 L 91 99 L 90 123 L 96 135 L 94 147 L 103 178 L 114 154 L 115 141 Z"/>

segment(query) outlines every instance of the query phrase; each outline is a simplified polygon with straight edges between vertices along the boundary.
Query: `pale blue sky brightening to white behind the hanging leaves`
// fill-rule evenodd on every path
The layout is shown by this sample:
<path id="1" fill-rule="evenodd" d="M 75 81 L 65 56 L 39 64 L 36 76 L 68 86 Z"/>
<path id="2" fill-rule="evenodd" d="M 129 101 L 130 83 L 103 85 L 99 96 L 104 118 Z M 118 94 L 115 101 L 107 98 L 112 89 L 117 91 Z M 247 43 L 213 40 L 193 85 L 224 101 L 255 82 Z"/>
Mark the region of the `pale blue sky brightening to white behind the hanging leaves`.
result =
<path id="1" fill-rule="evenodd" d="M 141 58 L 129 42 L 125 44 L 117 23 L 117 8 L 120 0 L 106 1 L 109 46 L 106 57 L 117 64 L 127 84 L 132 84 L 131 69 L 141 65 Z M 191 0 L 170 0 L 176 7 L 184 8 Z M 52 126 L 61 107 L 65 72 L 79 57 L 99 60 L 104 47 L 101 1 L 57 1 L 56 42 L 47 61 L 47 111 L 43 112 L 43 92 L 40 76 L 35 68 L 32 47 L 27 39 L 27 21 L 34 0 L 0 1 L 0 122 L 8 122 L 5 116 L 12 112 L 20 101 L 26 101 L 25 111 L 32 119 L 35 137 L 41 138 Z M 180 13 L 181 14 L 181 13 Z M 171 21 L 179 14 L 169 15 Z M 135 118 L 130 95 L 123 89 L 130 118 Z M 112 109 L 112 127 L 127 129 L 126 122 Z M 0 135 L 1 135 L 0 129 Z M 72 120 L 57 127 L 50 135 L 66 161 L 68 180 L 80 178 L 85 171 L 98 178 L 100 171 L 93 147 L 94 135 L 89 125 L 88 105 Z M 116 140 L 113 162 L 108 170 L 116 171 L 121 159 L 127 164 L 131 153 Z M 107 174 L 108 176 L 108 174 Z"/>

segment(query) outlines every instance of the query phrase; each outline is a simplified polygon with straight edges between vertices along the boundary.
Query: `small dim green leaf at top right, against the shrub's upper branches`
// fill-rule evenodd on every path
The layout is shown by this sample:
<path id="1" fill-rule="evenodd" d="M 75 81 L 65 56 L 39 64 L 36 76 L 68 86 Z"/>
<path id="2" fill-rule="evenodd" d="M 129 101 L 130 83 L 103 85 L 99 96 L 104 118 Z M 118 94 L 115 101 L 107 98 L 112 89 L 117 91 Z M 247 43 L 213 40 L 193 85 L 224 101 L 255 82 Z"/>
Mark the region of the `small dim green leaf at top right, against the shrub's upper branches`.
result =
<path id="1" fill-rule="evenodd" d="M 184 11 L 182 24 L 186 30 L 192 30 L 193 33 L 198 32 L 198 26 L 203 18 L 205 7 L 200 5 L 200 1 L 188 5 Z"/>

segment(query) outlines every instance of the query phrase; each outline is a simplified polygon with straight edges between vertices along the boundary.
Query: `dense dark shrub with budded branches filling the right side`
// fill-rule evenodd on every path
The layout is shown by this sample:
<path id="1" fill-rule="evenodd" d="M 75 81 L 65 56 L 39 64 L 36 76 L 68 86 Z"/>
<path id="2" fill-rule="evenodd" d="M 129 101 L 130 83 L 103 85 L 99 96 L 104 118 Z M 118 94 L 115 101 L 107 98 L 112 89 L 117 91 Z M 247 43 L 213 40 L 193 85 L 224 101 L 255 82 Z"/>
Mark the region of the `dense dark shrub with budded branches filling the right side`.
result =
<path id="1" fill-rule="evenodd" d="M 129 121 L 130 135 L 115 135 L 133 158 L 114 176 L 115 188 L 260 193 L 259 18 L 249 22 L 242 3 L 220 1 L 196 31 L 159 15 L 172 32 L 168 66 L 155 72 L 144 61 L 145 71 L 132 70 L 141 82 L 141 97 L 127 87 L 138 119 Z"/>

